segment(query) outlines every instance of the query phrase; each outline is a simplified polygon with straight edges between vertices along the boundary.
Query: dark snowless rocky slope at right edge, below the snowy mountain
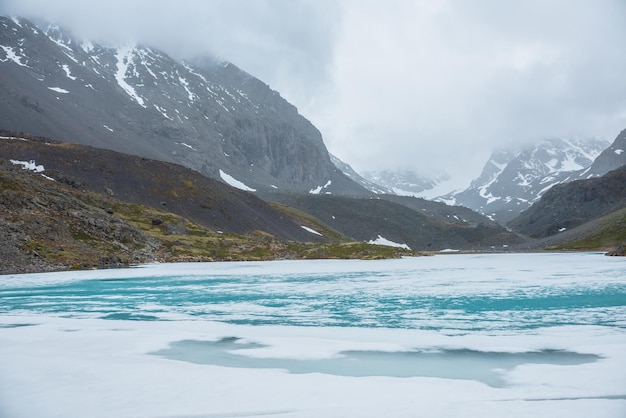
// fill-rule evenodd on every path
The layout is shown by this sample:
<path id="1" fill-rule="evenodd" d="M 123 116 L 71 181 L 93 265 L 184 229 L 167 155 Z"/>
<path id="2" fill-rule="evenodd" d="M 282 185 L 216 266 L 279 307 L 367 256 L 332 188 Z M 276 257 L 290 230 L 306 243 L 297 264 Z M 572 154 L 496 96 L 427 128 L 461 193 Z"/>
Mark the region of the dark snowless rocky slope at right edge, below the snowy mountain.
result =
<path id="1" fill-rule="evenodd" d="M 599 178 L 554 186 L 509 226 L 516 232 L 542 238 L 624 207 L 626 166 Z"/>

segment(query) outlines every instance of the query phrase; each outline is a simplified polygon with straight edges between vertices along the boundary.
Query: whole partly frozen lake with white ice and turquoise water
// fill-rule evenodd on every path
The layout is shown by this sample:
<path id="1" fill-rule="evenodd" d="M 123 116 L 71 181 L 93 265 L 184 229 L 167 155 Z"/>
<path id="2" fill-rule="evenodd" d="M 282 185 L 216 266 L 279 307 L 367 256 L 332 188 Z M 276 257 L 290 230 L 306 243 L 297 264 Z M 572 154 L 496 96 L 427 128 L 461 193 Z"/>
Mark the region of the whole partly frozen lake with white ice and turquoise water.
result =
<path id="1" fill-rule="evenodd" d="M 626 259 L 0 276 L 1 417 L 626 417 Z"/>

